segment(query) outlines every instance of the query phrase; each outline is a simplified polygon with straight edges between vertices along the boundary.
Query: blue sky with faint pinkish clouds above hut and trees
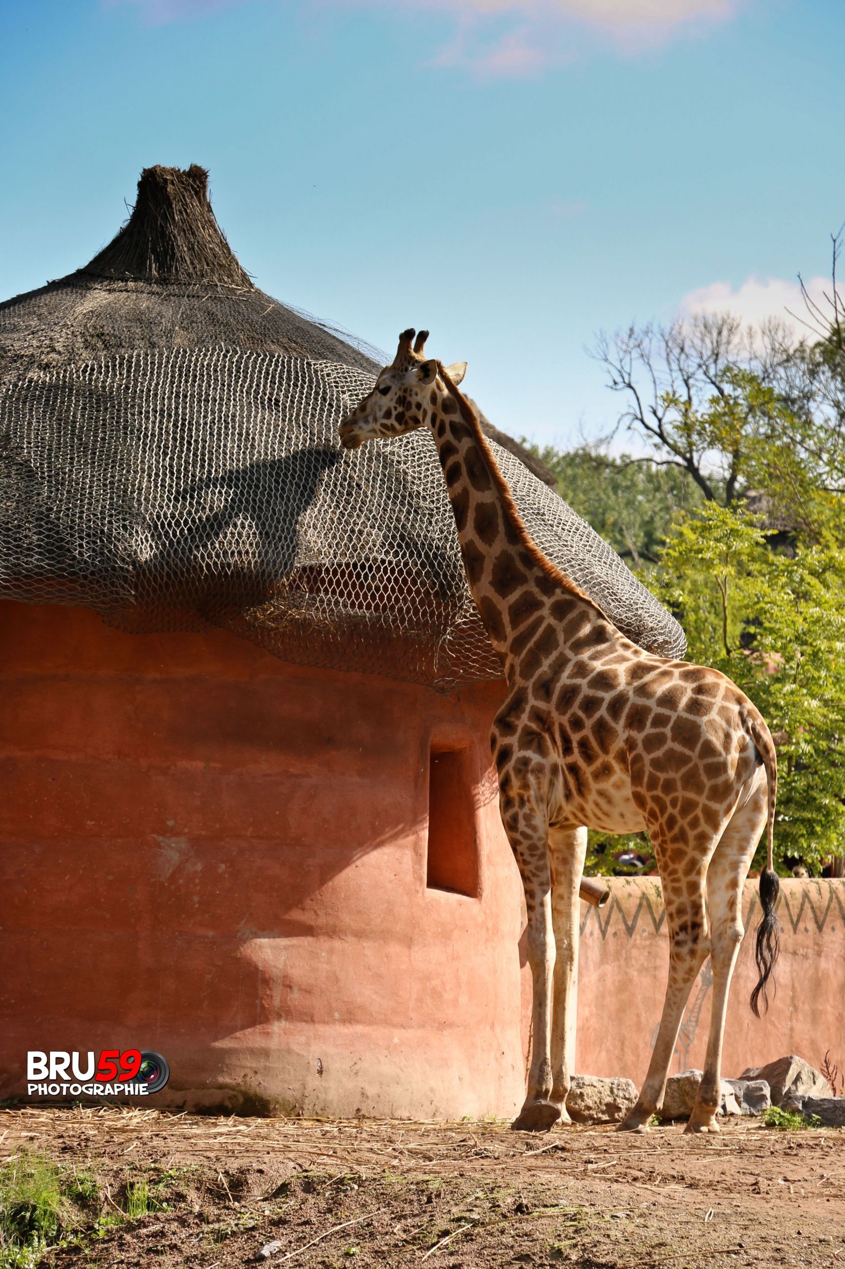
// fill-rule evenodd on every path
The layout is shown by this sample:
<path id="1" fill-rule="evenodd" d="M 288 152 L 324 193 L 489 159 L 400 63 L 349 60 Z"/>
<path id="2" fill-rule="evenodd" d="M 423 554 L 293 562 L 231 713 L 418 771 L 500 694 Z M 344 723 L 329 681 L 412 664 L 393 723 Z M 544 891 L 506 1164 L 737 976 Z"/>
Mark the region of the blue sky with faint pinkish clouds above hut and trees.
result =
<path id="1" fill-rule="evenodd" d="M 615 420 L 600 327 L 825 274 L 842 48 L 841 0 L 0 0 L 0 296 L 199 162 L 265 291 L 391 353 L 428 326 L 572 444 Z"/>

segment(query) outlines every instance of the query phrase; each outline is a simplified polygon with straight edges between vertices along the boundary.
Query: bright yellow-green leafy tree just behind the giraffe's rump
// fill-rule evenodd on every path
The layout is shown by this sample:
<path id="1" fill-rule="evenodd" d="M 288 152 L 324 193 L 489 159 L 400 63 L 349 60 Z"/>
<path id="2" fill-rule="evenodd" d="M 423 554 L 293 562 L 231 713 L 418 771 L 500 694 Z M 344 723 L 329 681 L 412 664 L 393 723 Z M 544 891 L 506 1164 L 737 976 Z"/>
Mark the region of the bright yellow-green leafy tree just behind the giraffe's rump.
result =
<path id="1" fill-rule="evenodd" d="M 709 503 L 675 527 L 652 585 L 683 622 L 690 660 L 732 679 L 769 723 L 776 857 L 818 872 L 845 841 L 842 552 L 771 552 L 752 516 Z"/>

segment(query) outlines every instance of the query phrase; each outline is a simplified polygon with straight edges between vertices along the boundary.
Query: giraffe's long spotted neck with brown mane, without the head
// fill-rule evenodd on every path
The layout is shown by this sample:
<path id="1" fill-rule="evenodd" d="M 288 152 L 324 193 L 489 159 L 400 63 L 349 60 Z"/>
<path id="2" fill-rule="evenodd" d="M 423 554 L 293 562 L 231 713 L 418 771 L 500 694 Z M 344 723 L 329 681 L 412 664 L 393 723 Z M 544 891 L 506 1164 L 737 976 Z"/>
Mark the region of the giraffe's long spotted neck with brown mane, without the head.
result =
<path id="1" fill-rule="evenodd" d="M 595 638 L 599 628 L 615 633 L 595 604 L 534 544 L 463 393 L 447 381 L 436 396 L 429 421 L 467 580 L 509 681 L 520 676 L 529 650 L 537 660 L 543 638 L 549 643 L 544 652 L 562 665 L 582 655 L 585 637 Z"/>

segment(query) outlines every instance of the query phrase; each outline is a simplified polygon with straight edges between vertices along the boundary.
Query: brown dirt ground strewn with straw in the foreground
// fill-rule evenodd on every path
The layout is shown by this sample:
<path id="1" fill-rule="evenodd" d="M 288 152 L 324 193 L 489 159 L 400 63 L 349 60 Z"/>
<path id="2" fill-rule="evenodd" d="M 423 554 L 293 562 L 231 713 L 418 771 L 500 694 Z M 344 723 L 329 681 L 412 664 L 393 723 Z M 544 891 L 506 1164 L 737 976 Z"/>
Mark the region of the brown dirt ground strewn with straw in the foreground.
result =
<path id="1" fill-rule="evenodd" d="M 3 1110 L 0 1161 L 22 1154 L 84 1195 L 39 1261 L 67 1269 L 845 1265 L 845 1132 Z"/>

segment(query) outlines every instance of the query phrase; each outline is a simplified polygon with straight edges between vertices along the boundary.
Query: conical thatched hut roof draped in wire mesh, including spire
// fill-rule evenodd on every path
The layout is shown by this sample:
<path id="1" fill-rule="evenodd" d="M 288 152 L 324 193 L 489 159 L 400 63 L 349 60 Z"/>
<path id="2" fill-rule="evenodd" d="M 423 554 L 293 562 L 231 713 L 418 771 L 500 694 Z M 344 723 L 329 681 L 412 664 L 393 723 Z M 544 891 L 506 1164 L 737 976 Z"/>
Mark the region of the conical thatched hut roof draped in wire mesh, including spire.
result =
<path id="1" fill-rule="evenodd" d="M 147 169 L 85 269 L 0 306 L 0 596 L 440 689 L 500 678 L 431 437 L 341 450 L 377 350 L 258 291 L 206 181 Z M 538 546 L 681 656 L 678 623 L 502 439 Z"/>

